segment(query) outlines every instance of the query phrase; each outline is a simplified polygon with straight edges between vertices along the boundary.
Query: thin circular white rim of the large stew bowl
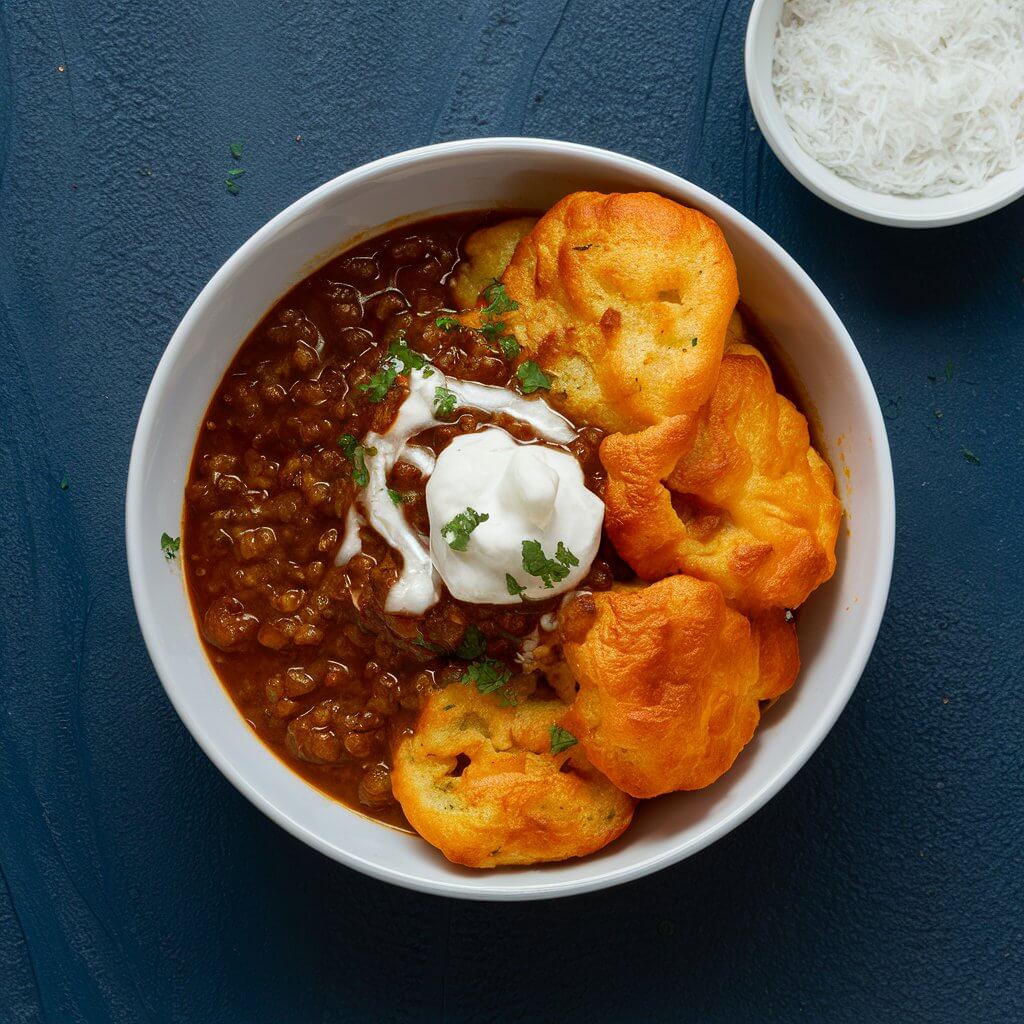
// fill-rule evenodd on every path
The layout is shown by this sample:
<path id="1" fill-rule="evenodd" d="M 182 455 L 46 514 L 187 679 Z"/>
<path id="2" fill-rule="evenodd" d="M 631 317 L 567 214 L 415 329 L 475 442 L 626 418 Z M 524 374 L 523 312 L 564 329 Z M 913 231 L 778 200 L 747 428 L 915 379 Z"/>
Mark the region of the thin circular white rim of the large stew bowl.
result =
<path id="1" fill-rule="evenodd" d="M 144 546 L 146 524 L 141 516 L 143 467 L 146 461 L 146 454 L 151 449 L 150 439 L 156 429 L 156 412 L 161 401 L 161 396 L 172 386 L 175 364 L 185 346 L 194 325 L 205 315 L 208 307 L 219 300 L 222 284 L 232 275 L 236 268 L 244 264 L 252 253 L 259 250 L 265 242 L 274 237 L 297 217 L 304 214 L 310 208 L 317 206 L 327 197 L 338 190 L 345 189 L 359 180 L 379 175 L 382 172 L 394 171 L 410 164 L 415 164 L 418 161 L 439 155 L 470 156 L 481 151 L 495 148 L 518 151 L 521 154 L 527 155 L 531 153 L 555 153 L 566 156 L 569 159 L 573 157 L 586 157 L 591 160 L 598 159 L 611 168 L 632 169 L 642 172 L 647 176 L 654 176 L 664 182 L 666 187 L 674 188 L 687 196 L 688 202 L 701 206 L 716 219 L 730 221 L 735 224 L 739 230 L 746 232 L 759 247 L 767 250 L 778 261 L 779 265 L 795 281 L 801 291 L 816 305 L 818 312 L 828 324 L 834 337 L 838 339 L 841 348 L 844 350 L 849 369 L 855 378 L 856 390 L 861 398 L 867 421 L 866 429 L 872 438 L 871 454 L 879 483 L 878 536 L 880 541 L 874 555 L 877 564 L 876 572 L 871 577 L 871 588 L 862 596 L 864 612 L 863 627 L 857 637 L 855 646 L 849 651 L 843 676 L 837 681 L 837 685 L 823 712 L 815 719 L 814 727 L 809 729 L 802 737 L 800 744 L 794 748 L 781 767 L 771 777 L 767 778 L 764 784 L 745 803 L 690 840 L 679 843 L 668 850 L 645 859 L 638 860 L 635 863 L 605 871 L 598 869 L 593 876 L 583 879 L 559 881 L 557 876 L 555 876 L 551 882 L 523 884 L 516 888 L 505 887 L 501 889 L 488 889 L 479 883 L 470 884 L 456 879 L 437 881 L 421 878 L 389 864 L 378 863 L 355 855 L 334 843 L 328 842 L 296 821 L 286 808 L 279 806 L 271 797 L 258 790 L 243 772 L 236 771 L 226 757 L 221 755 L 216 737 L 211 734 L 211 730 L 208 730 L 207 725 L 190 713 L 186 707 L 184 694 L 178 691 L 174 671 L 165 654 L 165 644 L 167 641 L 163 637 L 159 627 L 160 618 L 152 603 L 151 595 L 147 593 L 142 582 L 142 565 L 143 559 L 146 557 L 146 548 Z M 179 718 L 206 756 L 243 796 L 272 821 L 308 846 L 372 878 L 433 895 L 473 900 L 504 901 L 578 895 L 631 882 L 650 874 L 710 846 L 746 820 L 746 818 L 760 810 L 775 796 L 800 768 L 803 767 L 814 751 L 817 750 L 818 745 L 835 725 L 836 720 L 846 707 L 847 701 L 850 699 L 860 680 L 860 676 L 874 646 L 888 599 L 895 549 L 895 486 L 888 435 L 878 395 L 871 385 L 867 370 L 852 338 L 828 300 L 817 286 L 814 285 L 806 271 L 803 270 L 778 243 L 724 201 L 717 199 L 712 194 L 679 175 L 665 171 L 645 161 L 623 156 L 608 150 L 556 139 L 495 136 L 419 146 L 380 158 L 346 171 L 290 204 L 262 227 L 258 228 L 227 258 L 203 287 L 175 329 L 157 365 L 142 403 L 131 450 L 125 493 L 125 541 L 132 599 L 136 615 L 146 649 L 164 691 L 167 693 Z"/>

